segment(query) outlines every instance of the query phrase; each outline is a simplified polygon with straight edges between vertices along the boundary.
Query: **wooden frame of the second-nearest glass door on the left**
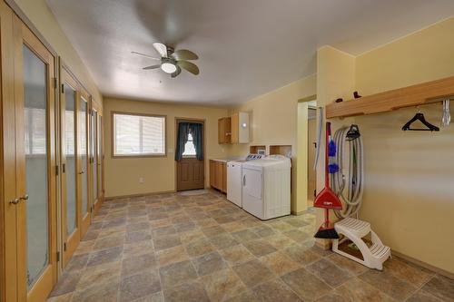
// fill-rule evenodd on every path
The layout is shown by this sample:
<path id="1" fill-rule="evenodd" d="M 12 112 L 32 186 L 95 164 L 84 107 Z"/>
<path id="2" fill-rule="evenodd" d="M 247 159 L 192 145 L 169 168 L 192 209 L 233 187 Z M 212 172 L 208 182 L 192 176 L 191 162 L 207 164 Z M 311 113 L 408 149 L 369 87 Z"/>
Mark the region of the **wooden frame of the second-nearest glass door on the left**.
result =
<path id="1" fill-rule="evenodd" d="M 66 172 L 63 171 L 63 165 L 66 165 L 66 157 L 64 156 L 64 114 L 65 108 L 63 106 L 66 103 L 66 98 L 64 96 L 64 90 L 59 89 L 60 92 L 60 163 L 62 165 L 62 173 L 61 173 L 61 229 L 62 229 L 62 242 L 64 248 L 63 250 L 63 268 L 69 262 L 69 259 L 73 256 L 75 249 L 78 247 L 79 242 L 81 240 L 81 215 L 82 215 L 82 201 L 81 195 L 78 190 L 79 186 L 81 185 L 79 182 L 79 178 L 77 177 L 77 161 L 79 157 L 79 141 L 77 140 L 79 135 L 79 127 L 78 127 L 78 111 L 79 111 L 79 101 L 80 101 L 80 85 L 77 82 L 77 79 L 74 77 L 74 74 L 69 71 L 69 68 L 64 64 L 60 64 L 60 85 L 63 87 L 64 84 L 69 84 L 75 91 L 75 100 L 74 100 L 74 154 L 75 154 L 75 220 L 76 220 L 76 229 L 71 235 L 66 234 L 66 226 L 67 226 L 67 217 L 66 217 Z"/>

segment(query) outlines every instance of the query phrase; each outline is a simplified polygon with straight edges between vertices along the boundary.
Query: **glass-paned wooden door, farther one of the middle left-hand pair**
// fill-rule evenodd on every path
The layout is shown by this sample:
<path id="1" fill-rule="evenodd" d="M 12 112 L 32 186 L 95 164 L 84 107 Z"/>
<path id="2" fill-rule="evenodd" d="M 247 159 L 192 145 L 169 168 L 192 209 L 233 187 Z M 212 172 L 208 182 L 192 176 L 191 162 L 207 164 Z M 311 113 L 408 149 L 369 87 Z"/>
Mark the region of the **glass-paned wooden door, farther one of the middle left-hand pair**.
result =
<path id="1" fill-rule="evenodd" d="M 90 95 L 82 90 L 79 99 L 79 106 L 77 110 L 77 125 L 78 125 L 78 181 L 81 184 L 79 188 L 79 195 L 81 196 L 82 203 L 82 222 L 81 222 L 81 238 L 90 227 L 92 206 L 90 202 L 90 158 L 89 158 L 89 101 Z"/>

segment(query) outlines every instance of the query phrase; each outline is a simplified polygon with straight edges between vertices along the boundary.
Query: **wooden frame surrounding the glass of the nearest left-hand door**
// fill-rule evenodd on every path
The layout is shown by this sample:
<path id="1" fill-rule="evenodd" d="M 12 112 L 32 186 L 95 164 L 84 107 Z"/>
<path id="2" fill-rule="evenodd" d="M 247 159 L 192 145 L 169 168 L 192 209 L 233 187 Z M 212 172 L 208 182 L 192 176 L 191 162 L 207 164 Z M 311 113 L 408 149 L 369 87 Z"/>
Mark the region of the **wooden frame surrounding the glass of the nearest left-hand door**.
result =
<path id="1" fill-rule="evenodd" d="M 48 228 L 49 228 L 49 265 L 44 269 L 43 274 L 37 280 L 34 287 L 27 290 L 26 287 L 26 204 L 21 202 L 17 204 L 17 210 L 25 215 L 17 215 L 17 292 L 18 301 L 41 301 L 50 293 L 50 290 L 56 283 L 57 278 L 57 258 L 56 258 L 56 233 L 57 233 L 57 215 L 56 215 L 56 126 L 55 126 L 55 92 L 53 92 L 55 77 L 56 56 L 52 54 L 43 43 L 35 36 L 34 33 L 19 19 L 17 15 L 13 16 L 14 30 L 14 47 L 15 47 L 15 128 L 24 132 L 24 80 L 22 78 L 23 56 L 22 50 L 24 44 L 38 56 L 47 68 L 47 191 L 48 191 Z M 25 179 L 25 146 L 24 141 L 16 140 L 16 179 Z M 20 188 L 22 181 L 17 181 L 17 195 L 26 194 L 26 188 Z M 22 208 L 22 209 L 21 209 Z"/>

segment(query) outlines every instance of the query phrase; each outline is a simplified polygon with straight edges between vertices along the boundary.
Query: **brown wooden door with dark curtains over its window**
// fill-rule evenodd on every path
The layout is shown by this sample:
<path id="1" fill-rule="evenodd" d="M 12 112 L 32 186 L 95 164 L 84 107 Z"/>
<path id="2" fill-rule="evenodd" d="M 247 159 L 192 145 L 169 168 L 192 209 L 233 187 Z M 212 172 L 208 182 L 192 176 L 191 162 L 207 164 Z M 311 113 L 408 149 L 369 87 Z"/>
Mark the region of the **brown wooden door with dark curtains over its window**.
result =
<path id="1" fill-rule="evenodd" d="M 205 188 L 205 122 L 175 119 L 176 190 Z"/>

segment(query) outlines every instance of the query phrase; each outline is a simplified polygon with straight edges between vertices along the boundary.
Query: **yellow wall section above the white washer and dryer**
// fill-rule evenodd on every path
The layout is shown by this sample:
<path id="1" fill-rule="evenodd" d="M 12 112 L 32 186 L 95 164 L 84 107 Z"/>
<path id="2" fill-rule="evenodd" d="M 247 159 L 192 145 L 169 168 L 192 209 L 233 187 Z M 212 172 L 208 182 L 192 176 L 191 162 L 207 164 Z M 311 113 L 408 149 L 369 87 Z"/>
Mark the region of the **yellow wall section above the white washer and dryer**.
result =
<path id="1" fill-rule="evenodd" d="M 233 112 L 249 112 L 251 117 L 251 143 L 232 145 L 229 154 L 244 156 L 249 153 L 250 145 L 291 145 L 292 165 L 296 167 L 298 100 L 315 94 L 316 76 L 310 75 L 290 83 L 271 93 L 258 96 L 234 108 Z M 292 169 L 291 211 L 306 209 L 306 198 L 295 194 L 296 169 Z"/>

